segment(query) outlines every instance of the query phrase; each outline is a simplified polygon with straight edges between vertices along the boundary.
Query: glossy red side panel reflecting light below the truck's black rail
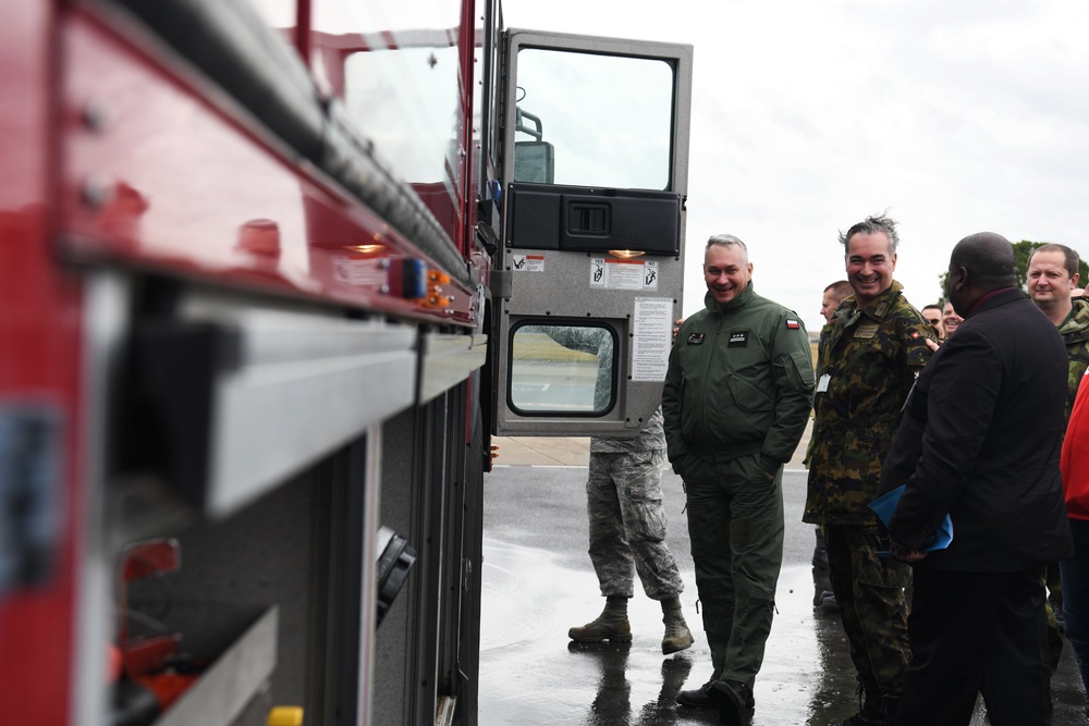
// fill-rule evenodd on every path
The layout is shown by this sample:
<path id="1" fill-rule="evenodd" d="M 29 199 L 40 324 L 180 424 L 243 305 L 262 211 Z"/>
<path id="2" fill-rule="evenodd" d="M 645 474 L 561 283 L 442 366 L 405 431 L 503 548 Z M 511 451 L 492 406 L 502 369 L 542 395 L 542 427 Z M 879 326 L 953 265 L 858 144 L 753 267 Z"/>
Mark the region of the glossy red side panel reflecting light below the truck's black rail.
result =
<path id="1" fill-rule="evenodd" d="M 72 256 L 171 269 L 228 285 L 306 295 L 467 323 L 469 291 L 449 306 L 383 292 L 359 259 L 423 258 L 395 231 L 293 167 L 220 93 L 88 19 L 65 27 L 62 233 Z M 173 71 L 173 72 L 171 72 Z M 183 81 L 184 78 L 184 81 Z M 227 108 L 230 102 L 227 101 Z M 101 119 L 87 123 L 87 118 Z M 254 237 L 265 236 L 258 242 Z M 452 288 L 452 290 L 451 290 Z"/>

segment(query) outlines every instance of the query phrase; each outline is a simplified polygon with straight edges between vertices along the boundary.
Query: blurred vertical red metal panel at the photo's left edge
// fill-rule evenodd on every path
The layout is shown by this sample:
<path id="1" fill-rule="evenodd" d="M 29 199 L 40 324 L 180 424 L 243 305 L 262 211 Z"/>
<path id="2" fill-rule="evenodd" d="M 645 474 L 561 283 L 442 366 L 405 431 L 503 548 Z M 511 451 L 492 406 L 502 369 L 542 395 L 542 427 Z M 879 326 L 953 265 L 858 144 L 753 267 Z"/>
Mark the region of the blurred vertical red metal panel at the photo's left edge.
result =
<path id="1" fill-rule="evenodd" d="M 0 703 L 4 723 L 42 726 L 65 723 L 71 705 L 83 507 L 78 286 L 48 248 L 51 5 L 5 3 L 0 22 L 0 405 L 56 410 L 64 451 L 54 566 L 38 585 L 0 593 Z"/>

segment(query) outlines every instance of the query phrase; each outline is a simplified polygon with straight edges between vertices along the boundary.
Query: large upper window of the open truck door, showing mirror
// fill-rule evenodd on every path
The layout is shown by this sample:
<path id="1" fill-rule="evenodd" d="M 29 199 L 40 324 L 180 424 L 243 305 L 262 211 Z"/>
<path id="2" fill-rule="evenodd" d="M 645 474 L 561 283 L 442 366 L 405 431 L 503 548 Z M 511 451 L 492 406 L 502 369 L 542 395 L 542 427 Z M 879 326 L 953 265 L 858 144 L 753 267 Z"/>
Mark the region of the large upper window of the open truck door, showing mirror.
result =
<path id="1" fill-rule="evenodd" d="M 669 188 L 674 73 L 668 62 L 524 48 L 517 72 L 522 171 L 515 175 L 525 179 L 515 181 Z"/>

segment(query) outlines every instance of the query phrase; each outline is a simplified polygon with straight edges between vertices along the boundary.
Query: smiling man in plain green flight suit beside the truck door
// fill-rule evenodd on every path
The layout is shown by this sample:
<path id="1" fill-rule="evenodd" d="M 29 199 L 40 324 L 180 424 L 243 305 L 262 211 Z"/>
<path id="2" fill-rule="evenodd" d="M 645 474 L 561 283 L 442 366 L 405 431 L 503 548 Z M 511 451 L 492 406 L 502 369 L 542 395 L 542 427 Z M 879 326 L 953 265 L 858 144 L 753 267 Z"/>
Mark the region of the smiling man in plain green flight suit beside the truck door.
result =
<path id="1" fill-rule="evenodd" d="M 797 313 L 752 292 L 744 242 L 711 237 L 703 279 L 706 309 L 681 324 L 662 392 L 713 666 L 677 702 L 748 724 L 783 562 L 783 465 L 809 417 L 812 357 Z"/>

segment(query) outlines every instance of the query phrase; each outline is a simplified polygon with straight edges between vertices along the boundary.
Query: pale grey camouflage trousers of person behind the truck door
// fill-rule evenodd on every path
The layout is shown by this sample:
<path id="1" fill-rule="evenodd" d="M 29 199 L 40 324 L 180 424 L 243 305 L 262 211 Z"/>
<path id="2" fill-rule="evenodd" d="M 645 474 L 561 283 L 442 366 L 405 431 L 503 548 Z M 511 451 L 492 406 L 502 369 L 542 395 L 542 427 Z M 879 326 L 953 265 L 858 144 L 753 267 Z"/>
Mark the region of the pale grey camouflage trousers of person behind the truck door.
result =
<path id="1" fill-rule="evenodd" d="M 586 512 L 590 520 L 590 562 L 601 594 L 631 598 L 634 574 L 651 600 L 684 590 L 677 563 L 665 545 L 661 450 L 590 453 Z"/>

